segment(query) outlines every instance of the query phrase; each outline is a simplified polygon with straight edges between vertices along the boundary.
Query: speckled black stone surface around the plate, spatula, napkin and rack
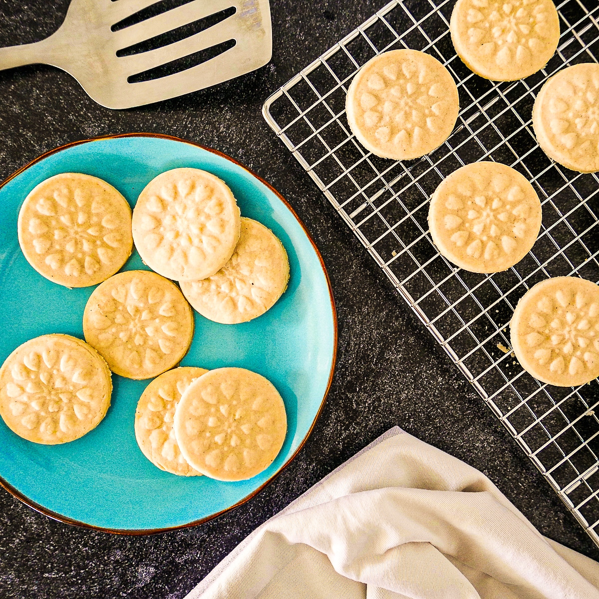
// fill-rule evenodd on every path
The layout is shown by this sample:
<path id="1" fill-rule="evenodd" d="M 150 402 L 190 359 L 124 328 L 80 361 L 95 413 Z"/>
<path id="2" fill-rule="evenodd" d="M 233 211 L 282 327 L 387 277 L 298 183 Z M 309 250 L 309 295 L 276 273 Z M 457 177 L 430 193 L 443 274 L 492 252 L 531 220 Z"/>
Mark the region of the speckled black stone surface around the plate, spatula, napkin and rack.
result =
<path id="1" fill-rule="evenodd" d="M 221 150 L 273 184 L 304 220 L 331 276 L 339 325 L 337 370 L 322 416 L 295 461 L 258 497 L 195 528 L 134 537 L 52 521 L 0 490 L 0 597 L 183 597 L 259 524 L 393 425 L 479 468 L 541 533 L 599 559 L 599 549 L 262 119 L 271 92 L 384 3 L 273 0 L 270 64 L 132 110 L 100 107 L 49 66 L 0 72 L 2 179 L 46 150 L 96 135 L 159 132 Z M 0 45 L 46 37 L 67 5 L 0 0 Z"/>

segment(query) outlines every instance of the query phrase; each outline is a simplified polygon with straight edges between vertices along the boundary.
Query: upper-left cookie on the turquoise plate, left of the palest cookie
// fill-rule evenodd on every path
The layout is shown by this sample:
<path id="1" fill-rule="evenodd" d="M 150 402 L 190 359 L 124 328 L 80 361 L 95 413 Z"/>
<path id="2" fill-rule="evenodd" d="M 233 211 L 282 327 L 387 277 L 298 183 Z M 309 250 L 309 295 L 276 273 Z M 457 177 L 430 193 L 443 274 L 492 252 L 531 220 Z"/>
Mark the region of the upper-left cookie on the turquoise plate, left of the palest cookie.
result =
<path id="1" fill-rule="evenodd" d="M 19 244 L 46 279 L 88 287 L 108 279 L 133 249 L 131 208 L 98 177 L 61 173 L 29 192 L 19 211 Z"/>

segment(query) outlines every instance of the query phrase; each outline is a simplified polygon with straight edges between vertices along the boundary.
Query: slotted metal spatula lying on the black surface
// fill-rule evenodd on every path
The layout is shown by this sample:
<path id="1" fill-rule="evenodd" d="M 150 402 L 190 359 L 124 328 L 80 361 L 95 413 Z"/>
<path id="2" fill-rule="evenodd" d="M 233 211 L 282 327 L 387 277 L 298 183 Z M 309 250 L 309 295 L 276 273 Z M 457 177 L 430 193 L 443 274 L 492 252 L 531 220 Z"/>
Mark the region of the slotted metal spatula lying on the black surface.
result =
<path id="1" fill-rule="evenodd" d="M 265 65 L 272 55 L 268 0 L 193 0 L 134 25 L 111 27 L 157 0 L 72 0 L 58 31 L 35 44 L 0 48 L 0 70 L 32 63 L 58 66 L 99 104 L 131 108 L 193 92 Z M 235 13 L 190 37 L 147 52 L 117 56 L 188 23 L 234 7 Z M 235 40 L 235 46 L 186 70 L 129 83 L 145 73 L 200 50 Z M 168 67 L 167 67 L 168 68 Z M 150 73 L 149 76 L 152 76 Z"/>

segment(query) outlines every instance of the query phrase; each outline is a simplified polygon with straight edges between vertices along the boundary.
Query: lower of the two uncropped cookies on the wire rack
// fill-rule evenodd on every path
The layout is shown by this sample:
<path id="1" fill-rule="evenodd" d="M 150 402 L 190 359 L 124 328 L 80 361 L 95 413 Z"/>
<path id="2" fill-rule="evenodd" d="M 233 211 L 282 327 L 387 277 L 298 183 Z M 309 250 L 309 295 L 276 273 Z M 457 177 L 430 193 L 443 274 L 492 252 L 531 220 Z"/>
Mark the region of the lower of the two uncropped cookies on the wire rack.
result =
<path id="1" fill-rule="evenodd" d="M 428 225 L 450 262 L 473 273 L 498 273 L 530 252 L 541 228 L 541 202 L 513 168 L 474 162 L 435 189 Z"/>

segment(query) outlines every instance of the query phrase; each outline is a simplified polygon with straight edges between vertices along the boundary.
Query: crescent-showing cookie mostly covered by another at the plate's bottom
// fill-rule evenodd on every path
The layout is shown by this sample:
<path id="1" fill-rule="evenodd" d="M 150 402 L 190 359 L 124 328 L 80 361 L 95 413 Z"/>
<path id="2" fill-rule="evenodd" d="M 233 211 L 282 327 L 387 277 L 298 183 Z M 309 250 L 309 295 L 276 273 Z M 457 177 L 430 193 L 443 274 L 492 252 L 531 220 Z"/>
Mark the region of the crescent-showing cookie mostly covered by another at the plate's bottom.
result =
<path id="1" fill-rule="evenodd" d="M 183 366 L 156 377 L 141 394 L 135 410 L 135 438 L 147 459 L 161 470 L 179 476 L 201 476 L 181 455 L 173 418 L 181 394 L 205 368 Z"/>

